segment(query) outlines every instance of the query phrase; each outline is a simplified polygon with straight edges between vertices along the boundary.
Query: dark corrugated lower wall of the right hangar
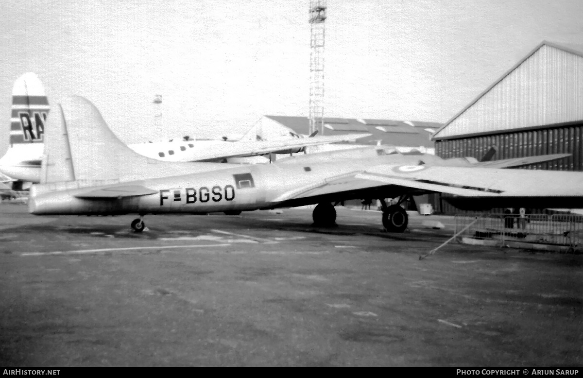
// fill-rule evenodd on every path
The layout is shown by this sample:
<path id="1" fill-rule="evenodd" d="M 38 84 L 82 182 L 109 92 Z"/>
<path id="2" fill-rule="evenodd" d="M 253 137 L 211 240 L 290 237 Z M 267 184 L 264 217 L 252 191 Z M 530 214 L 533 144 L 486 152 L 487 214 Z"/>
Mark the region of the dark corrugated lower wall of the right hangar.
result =
<path id="1" fill-rule="evenodd" d="M 436 155 L 444 159 L 472 156 L 480 160 L 492 146 L 498 148 L 498 152 L 492 160 L 570 153 L 571 156 L 566 159 L 533 164 L 524 167 L 524 169 L 583 171 L 583 123 L 565 127 L 436 141 Z M 447 202 L 441 201 L 439 195 L 434 196 L 432 205 L 437 212 L 461 212 Z"/>

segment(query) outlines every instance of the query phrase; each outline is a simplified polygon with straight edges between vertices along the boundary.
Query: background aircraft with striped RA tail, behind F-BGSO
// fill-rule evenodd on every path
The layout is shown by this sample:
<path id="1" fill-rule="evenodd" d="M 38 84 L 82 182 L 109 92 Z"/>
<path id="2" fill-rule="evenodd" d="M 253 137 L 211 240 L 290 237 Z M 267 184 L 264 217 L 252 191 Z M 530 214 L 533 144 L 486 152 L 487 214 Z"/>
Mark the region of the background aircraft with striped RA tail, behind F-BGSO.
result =
<path id="1" fill-rule="evenodd" d="M 47 96 L 40 79 L 28 72 L 20 76 L 12 90 L 10 118 L 10 147 L 0 159 L 0 172 L 23 181 L 39 182 L 44 149 L 44 128 L 50 111 Z M 251 130 L 240 141 L 173 139 L 149 143 L 135 143 L 129 147 L 141 155 L 167 162 L 269 162 L 261 157 L 268 153 L 290 154 L 303 152 L 308 146 L 353 141 L 370 134 L 346 134 L 300 138 L 290 135 L 275 141 L 257 141 Z M 87 135 L 89 140 L 93 137 Z M 22 185 L 21 185 L 22 186 Z"/>

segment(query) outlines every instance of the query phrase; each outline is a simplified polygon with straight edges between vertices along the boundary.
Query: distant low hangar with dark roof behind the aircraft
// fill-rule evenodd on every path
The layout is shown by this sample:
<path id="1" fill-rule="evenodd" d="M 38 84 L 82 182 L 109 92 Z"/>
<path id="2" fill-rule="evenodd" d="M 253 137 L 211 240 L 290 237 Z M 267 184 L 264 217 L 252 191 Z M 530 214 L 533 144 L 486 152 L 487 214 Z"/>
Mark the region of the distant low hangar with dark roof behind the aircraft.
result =
<path id="1" fill-rule="evenodd" d="M 415 150 L 422 153 L 434 153 L 431 135 L 441 127 L 437 122 L 363 120 L 354 118 L 324 118 L 324 135 L 368 133 L 371 136 L 357 139 L 359 144 L 376 144 L 395 146 L 400 152 Z M 310 134 L 310 122 L 307 117 L 289 117 L 285 115 L 264 115 L 254 125 L 255 132 L 264 139 Z"/>

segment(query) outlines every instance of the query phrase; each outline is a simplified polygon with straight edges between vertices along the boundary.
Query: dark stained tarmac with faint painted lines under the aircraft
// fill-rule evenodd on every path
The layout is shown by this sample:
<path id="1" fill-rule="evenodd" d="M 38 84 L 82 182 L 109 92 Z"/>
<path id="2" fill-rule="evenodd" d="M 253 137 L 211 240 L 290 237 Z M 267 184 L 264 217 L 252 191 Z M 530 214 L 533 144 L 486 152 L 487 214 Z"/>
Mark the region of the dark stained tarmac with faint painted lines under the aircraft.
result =
<path id="1" fill-rule="evenodd" d="M 337 208 L 37 217 L 0 204 L 0 366 L 583 366 L 582 255 Z M 437 219 L 443 230 L 422 220 Z"/>

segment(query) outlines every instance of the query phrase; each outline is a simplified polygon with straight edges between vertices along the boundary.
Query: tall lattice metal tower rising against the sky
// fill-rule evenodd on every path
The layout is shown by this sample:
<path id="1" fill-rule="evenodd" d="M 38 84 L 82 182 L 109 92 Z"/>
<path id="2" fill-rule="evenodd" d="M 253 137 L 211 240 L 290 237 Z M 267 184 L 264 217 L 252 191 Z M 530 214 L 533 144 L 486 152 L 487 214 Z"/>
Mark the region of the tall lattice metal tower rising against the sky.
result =
<path id="1" fill-rule="evenodd" d="M 324 21 L 326 0 L 310 0 L 310 134 L 324 134 Z"/>

